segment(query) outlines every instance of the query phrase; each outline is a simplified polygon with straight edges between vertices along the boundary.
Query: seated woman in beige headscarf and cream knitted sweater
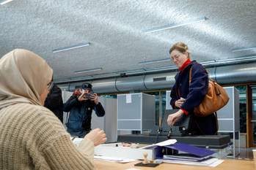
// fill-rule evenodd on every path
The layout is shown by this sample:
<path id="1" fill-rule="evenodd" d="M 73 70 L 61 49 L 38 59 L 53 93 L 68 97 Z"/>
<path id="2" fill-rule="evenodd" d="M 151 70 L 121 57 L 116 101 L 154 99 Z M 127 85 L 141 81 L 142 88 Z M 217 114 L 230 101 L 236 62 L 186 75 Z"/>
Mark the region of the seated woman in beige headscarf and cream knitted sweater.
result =
<path id="1" fill-rule="evenodd" d="M 54 113 L 43 107 L 53 71 L 29 50 L 0 58 L 0 169 L 94 169 L 95 129 L 76 147 Z"/>

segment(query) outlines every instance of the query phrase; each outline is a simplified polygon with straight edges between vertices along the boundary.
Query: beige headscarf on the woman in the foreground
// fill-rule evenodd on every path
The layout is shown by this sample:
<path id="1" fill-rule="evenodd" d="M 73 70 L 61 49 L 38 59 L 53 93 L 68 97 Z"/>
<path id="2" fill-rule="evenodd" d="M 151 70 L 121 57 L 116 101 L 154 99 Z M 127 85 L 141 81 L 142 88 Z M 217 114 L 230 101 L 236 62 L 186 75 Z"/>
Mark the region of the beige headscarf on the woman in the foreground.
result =
<path id="1" fill-rule="evenodd" d="M 17 103 L 41 105 L 40 94 L 52 75 L 48 63 L 29 50 L 7 53 L 0 58 L 0 109 Z"/>

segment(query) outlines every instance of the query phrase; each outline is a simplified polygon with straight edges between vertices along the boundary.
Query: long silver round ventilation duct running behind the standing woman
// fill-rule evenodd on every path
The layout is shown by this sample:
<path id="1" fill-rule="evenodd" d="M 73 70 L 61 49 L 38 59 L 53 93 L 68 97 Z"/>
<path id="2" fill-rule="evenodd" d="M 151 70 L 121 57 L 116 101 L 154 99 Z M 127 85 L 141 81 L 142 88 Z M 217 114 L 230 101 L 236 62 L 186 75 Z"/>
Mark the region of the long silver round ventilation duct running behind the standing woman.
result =
<path id="1" fill-rule="evenodd" d="M 246 63 L 233 66 L 220 66 L 207 69 L 211 78 L 220 84 L 256 82 L 255 63 Z M 166 72 L 161 74 L 147 74 L 134 77 L 118 77 L 103 80 L 93 80 L 92 86 L 95 93 L 117 93 L 134 92 L 143 90 L 170 89 L 175 83 L 177 72 Z M 59 85 L 68 90 L 74 89 L 76 85 L 83 82 Z"/>

